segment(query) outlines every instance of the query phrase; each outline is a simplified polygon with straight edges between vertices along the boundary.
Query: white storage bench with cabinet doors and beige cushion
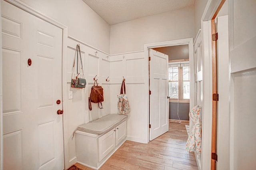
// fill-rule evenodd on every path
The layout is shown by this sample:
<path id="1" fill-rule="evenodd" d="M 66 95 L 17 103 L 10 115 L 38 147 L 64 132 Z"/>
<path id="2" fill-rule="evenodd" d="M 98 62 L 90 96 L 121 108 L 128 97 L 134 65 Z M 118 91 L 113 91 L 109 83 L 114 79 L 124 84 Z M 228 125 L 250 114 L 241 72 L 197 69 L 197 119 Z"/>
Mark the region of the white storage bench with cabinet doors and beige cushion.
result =
<path id="1" fill-rule="evenodd" d="M 126 140 L 126 115 L 110 114 L 75 130 L 77 162 L 98 170 Z"/>

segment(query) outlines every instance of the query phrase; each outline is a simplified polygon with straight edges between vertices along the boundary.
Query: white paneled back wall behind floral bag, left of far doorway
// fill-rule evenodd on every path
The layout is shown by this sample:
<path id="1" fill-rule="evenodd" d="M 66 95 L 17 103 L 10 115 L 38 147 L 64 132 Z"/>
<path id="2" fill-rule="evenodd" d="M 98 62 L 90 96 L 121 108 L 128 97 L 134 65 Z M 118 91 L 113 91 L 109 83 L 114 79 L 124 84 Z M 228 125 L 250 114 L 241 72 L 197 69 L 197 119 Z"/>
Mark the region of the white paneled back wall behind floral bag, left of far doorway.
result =
<path id="1" fill-rule="evenodd" d="M 124 76 L 126 79 L 126 94 L 131 108 L 127 119 L 127 140 L 147 143 L 148 113 L 145 113 L 147 105 L 144 99 L 146 93 L 146 68 L 144 65 L 144 51 L 111 56 L 110 111 L 111 113 L 118 113 L 117 95 L 120 94 L 122 76 Z"/>

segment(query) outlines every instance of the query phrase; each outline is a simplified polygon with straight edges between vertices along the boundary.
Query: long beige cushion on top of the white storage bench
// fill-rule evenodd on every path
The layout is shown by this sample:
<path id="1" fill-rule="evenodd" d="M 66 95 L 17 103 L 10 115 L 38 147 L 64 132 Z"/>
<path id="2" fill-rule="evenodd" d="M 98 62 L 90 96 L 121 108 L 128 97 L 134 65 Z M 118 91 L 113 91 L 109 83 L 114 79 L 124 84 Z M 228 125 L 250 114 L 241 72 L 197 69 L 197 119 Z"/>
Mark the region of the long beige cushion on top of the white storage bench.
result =
<path id="1" fill-rule="evenodd" d="M 96 119 L 95 121 L 80 125 L 76 130 L 93 134 L 103 134 L 122 123 L 127 117 L 127 115 L 110 114 Z"/>

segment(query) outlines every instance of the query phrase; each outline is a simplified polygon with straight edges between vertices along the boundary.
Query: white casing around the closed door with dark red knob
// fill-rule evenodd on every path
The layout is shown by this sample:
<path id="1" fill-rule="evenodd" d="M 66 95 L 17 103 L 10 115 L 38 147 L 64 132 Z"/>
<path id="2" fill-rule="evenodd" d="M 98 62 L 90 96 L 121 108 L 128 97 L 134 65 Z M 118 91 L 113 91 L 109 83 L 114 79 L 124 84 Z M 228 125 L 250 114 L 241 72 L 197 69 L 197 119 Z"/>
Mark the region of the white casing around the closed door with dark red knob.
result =
<path id="1" fill-rule="evenodd" d="M 64 24 L 42 14 L 41 12 L 39 12 L 38 10 L 35 10 L 34 8 L 24 4 L 23 2 L 20 2 L 19 0 L 4 0 L 6 2 L 8 2 L 9 4 L 12 4 L 13 6 L 16 6 L 17 8 L 20 8 L 21 10 L 24 10 L 25 12 L 28 12 L 29 14 L 41 19 L 41 20 L 44 20 L 60 29 L 62 29 L 62 109 L 64 111 L 67 111 L 67 105 L 66 105 L 66 101 L 68 100 L 67 99 L 67 95 L 65 95 L 64 92 L 67 91 L 67 87 L 66 87 L 66 67 L 64 67 L 66 65 L 66 59 L 67 59 L 67 49 L 65 48 L 66 47 L 66 44 L 67 44 L 67 38 L 68 38 L 68 27 L 65 26 Z M 2 55 L 1 55 L 1 58 L 2 58 Z M 1 63 L 2 64 L 2 63 Z M 1 67 L 2 68 L 2 67 Z M 1 77 L 2 78 L 2 77 Z M 1 81 L 2 82 L 2 81 Z M 1 88 L 2 88 L 2 85 L 1 85 Z M 2 105 L 1 105 L 2 106 Z M 2 120 L 2 115 L 0 115 L 0 120 Z M 67 143 L 65 141 L 65 138 L 68 138 L 68 128 L 65 128 L 67 127 L 67 120 L 68 120 L 68 115 L 67 114 L 63 114 L 63 117 L 62 117 L 62 122 L 63 122 L 63 151 L 64 151 L 64 168 L 68 168 L 66 166 L 68 166 L 68 160 L 66 160 L 66 158 L 68 158 L 68 148 L 65 147 L 67 146 Z M 1 127 L 1 130 L 2 130 L 2 127 Z M 2 135 L 2 134 L 0 134 Z M 2 139 L 2 136 L 0 136 L 1 139 Z M 2 151 L 2 145 L 0 145 L 1 148 L 0 150 Z M 3 155 L 2 155 L 3 156 Z M 0 159 L 1 162 L 0 162 L 0 168 L 2 167 L 2 158 Z M 0 169 L 1 170 L 1 169 Z"/>

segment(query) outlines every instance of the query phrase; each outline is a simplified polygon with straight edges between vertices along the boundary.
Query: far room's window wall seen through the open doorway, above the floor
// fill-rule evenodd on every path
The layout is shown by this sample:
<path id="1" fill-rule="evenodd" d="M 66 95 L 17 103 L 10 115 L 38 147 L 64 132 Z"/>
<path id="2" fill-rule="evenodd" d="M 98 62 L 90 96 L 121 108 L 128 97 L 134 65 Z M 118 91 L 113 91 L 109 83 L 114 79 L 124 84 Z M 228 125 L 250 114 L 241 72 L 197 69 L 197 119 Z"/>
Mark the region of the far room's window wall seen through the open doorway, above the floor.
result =
<path id="1" fill-rule="evenodd" d="M 189 121 L 190 66 L 188 44 L 153 48 L 168 55 L 169 121 Z"/>

